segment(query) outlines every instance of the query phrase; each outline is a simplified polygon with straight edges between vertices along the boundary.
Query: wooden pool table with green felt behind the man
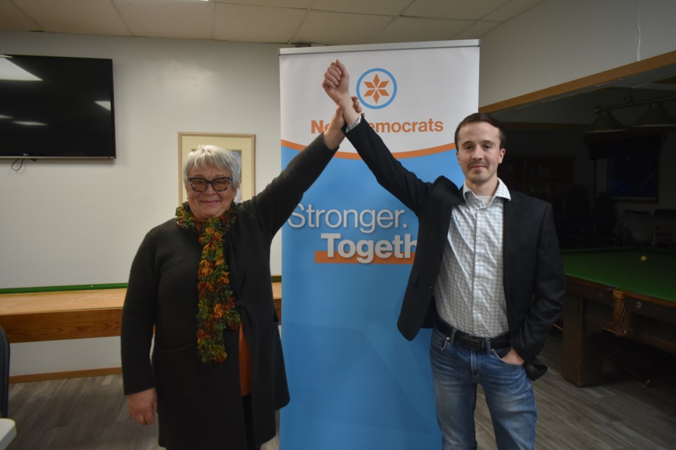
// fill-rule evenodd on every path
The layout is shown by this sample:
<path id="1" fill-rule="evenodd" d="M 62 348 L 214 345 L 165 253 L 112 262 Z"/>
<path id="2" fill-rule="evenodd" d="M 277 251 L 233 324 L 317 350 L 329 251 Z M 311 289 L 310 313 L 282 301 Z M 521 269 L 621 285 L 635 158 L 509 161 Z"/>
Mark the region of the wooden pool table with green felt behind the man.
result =
<path id="1" fill-rule="evenodd" d="M 565 380 L 601 383 L 604 332 L 676 354 L 676 252 L 616 247 L 562 254 Z"/>

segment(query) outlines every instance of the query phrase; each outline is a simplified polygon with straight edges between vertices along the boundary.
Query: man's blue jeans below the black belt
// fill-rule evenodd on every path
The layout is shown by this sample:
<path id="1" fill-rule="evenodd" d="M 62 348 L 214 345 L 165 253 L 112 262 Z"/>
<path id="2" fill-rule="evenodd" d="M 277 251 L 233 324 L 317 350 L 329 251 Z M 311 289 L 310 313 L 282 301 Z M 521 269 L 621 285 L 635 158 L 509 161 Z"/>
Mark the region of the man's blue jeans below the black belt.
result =
<path id="1" fill-rule="evenodd" d="M 474 410 L 481 385 L 498 449 L 532 450 L 537 409 L 523 366 L 501 360 L 509 349 L 475 352 L 432 332 L 430 361 L 444 450 L 476 449 Z"/>

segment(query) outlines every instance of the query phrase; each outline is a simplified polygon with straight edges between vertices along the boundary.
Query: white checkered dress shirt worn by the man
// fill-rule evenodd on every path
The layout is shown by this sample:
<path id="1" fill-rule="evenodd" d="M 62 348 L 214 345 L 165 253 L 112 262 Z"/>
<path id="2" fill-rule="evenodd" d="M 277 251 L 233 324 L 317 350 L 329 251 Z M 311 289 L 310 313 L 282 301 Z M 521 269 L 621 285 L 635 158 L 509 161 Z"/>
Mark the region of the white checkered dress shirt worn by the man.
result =
<path id="1" fill-rule="evenodd" d="M 446 323 L 493 338 L 508 330 L 502 255 L 503 202 L 510 195 L 499 179 L 493 197 L 479 198 L 466 184 L 463 196 L 453 207 L 434 297 Z"/>

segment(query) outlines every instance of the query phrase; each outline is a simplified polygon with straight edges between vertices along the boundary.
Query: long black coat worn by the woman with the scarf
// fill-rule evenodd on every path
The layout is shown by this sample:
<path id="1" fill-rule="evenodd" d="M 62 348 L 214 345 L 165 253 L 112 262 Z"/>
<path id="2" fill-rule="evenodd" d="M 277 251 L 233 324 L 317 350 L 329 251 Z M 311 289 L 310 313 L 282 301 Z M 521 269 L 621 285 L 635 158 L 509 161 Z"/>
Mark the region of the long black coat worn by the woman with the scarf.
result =
<path id="1" fill-rule="evenodd" d="M 275 436 L 275 410 L 289 402 L 270 282 L 270 245 L 335 150 L 318 136 L 264 191 L 237 205 L 237 221 L 223 238 L 230 285 L 241 303 L 242 329 L 251 350 L 256 445 Z M 225 332 L 225 362 L 202 364 L 196 356 L 197 238 L 196 231 L 181 229 L 170 219 L 149 231 L 134 257 L 122 319 L 125 394 L 156 388 L 162 446 L 246 449 L 239 333 Z"/>

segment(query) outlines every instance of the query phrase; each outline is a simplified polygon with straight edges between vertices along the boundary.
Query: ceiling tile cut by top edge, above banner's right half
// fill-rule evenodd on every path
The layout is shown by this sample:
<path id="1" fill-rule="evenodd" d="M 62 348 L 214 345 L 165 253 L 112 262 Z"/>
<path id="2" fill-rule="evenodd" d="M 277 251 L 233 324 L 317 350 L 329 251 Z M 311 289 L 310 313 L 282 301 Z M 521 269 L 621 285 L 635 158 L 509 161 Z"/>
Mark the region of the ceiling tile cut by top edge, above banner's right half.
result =
<path id="1" fill-rule="evenodd" d="M 509 0 L 415 0 L 403 15 L 427 18 L 477 20 Z"/>

